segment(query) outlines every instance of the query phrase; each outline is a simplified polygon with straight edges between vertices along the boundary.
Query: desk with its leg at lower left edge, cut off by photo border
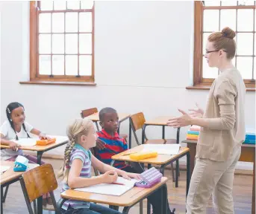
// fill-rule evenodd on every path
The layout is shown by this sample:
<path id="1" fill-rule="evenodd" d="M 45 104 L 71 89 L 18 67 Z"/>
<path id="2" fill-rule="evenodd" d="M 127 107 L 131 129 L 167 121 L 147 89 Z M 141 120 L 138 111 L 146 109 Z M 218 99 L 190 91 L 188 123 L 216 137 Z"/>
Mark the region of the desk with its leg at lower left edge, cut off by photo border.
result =
<path id="1" fill-rule="evenodd" d="M 7 189 L 5 189 L 4 192 L 4 187 L 8 188 L 10 184 L 13 184 L 16 181 L 19 181 L 19 178 L 21 178 L 22 174 L 24 172 L 14 172 L 13 167 L 14 167 L 14 162 L 13 161 L 7 161 L 7 160 L 0 160 L 0 165 L 1 166 L 10 166 L 10 169 L 7 169 L 7 171 L 3 172 L 1 174 L 1 214 L 3 213 L 3 202 L 5 201 L 6 198 L 6 193 Z M 34 167 L 39 166 L 37 163 L 28 163 L 28 169 L 33 169 Z"/>

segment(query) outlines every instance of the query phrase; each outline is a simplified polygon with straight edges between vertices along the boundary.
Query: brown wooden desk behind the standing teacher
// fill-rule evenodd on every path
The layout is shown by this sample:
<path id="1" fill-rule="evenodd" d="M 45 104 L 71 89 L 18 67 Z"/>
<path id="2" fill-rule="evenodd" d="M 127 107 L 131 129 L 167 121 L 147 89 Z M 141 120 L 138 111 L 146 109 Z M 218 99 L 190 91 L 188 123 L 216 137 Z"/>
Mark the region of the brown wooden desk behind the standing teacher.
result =
<path id="1" fill-rule="evenodd" d="M 183 140 L 182 143 L 187 143 L 187 147 L 190 148 L 190 173 L 192 175 L 193 169 L 195 167 L 197 140 Z M 254 144 L 242 144 L 239 161 L 253 163 L 252 214 L 255 214 L 255 145 Z"/>

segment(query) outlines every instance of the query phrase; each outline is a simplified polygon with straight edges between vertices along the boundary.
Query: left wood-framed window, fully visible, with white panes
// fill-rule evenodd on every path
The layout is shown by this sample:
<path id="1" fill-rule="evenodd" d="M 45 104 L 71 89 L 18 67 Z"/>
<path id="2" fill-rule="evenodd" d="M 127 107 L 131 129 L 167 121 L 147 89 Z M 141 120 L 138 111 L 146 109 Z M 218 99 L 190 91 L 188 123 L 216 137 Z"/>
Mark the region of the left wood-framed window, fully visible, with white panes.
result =
<path id="1" fill-rule="evenodd" d="M 93 1 L 31 1 L 31 81 L 94 82 Z"/>

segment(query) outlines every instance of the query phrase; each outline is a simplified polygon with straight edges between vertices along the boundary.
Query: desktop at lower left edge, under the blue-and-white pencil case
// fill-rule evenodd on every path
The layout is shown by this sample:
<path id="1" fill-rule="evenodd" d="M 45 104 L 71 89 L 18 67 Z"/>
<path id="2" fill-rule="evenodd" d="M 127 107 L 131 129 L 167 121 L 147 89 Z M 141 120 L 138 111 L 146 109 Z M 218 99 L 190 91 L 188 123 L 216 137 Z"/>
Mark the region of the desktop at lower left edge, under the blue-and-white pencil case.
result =
<path id="1" fill-rule="evenodd" d="M 7 160 L 0 160 L 0 165 L 1 166 L 10 166 L 10 169 L 5 171 L 3 174 L 1 174 L 1 181 L 0 184 L 5 184 L 9 181 L 12 181 L 13 179 L 19 178 L 22 176 L 24 172 L 14 172 L 13 167 L 14 167 L 14 162 L 13 161 L 7 161 Z M 34 167 L 39 166 L 36 163 L 28 163 L 28 169 L 33 169 Z"/>

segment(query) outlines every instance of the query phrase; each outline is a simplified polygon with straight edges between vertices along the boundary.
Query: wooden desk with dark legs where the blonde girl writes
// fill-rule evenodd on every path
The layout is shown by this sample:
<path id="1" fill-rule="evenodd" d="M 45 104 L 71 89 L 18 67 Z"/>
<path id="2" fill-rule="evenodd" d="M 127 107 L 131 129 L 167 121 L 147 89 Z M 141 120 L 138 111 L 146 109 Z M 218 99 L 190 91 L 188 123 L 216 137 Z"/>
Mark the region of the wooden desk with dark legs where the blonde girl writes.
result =
<path id="1" fill-rule="evenodd" d="M 133 207 L 135 204 L 139 203 L 140 201 L 143 201 L 143 199 L 147 198 L 154 191 L 162 187 L 163 184 L 166 184 L 167 180 L 168 178 L 163 177 L 160 183 L 154 185 L 154 187 L 152 188 L 134 187 L 133 189 L 128 190 L 128 192 L 125 192 L 123 195 L 120 195 L 120 196 L 81 192 L 81 191 L 75 191 L 73 189 L 69 189 L 69 190 L 66 190 L 65 192 L 62 192 L 60 196 L 61 198 L 66 198 L 66 199 L 94 202 L 99 204 L 108 204 L 115 207 L 124 207 L 124 209 L 122 210 L 122 213 L 128 213 L 131 207 Z M 162 210 L 160 213 L 165 214 L 167 213 L 166 212 L 167 198 L 166 198 L 166 191 L 163 189 L 162 191 L 163 191 L 162 192 L 163 204 L 161 206 Z M 62 207 L 63 202 L 64 202 L 63 200 L 60 200 L 58 203 L 58 206 Z"/>

